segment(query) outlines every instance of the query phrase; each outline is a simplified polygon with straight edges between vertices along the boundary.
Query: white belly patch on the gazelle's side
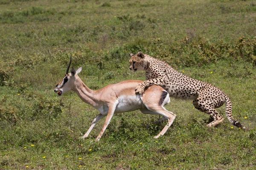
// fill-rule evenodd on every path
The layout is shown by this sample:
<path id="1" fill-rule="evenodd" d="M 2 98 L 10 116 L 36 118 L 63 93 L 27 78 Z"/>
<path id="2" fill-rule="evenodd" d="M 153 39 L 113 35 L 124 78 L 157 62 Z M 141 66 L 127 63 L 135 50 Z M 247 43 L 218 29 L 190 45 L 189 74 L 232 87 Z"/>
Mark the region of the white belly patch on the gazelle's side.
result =
<path id="1" fill-rule="evenodd" d="M 136 96 L 119 96 L 115 113 L 135 111 L 142 108 L 143 102 L 140 95 Z"/>

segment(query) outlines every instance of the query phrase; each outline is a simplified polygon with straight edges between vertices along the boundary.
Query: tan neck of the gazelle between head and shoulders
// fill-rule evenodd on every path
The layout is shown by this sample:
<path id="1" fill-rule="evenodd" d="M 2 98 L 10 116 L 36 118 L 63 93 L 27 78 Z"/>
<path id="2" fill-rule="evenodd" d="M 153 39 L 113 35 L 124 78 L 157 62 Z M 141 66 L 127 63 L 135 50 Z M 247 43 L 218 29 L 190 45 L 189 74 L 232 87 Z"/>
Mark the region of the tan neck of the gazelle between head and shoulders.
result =
<path id="1" fill-rule="evenodd" d="M 83 100 L 85 103 L 93 106 L 93 108 L 98 108 L 99 105 L 99 97 L 98 94 L 88 88 L 84 82 L 76 75 L 76 82 L 73 91 Z"/>

